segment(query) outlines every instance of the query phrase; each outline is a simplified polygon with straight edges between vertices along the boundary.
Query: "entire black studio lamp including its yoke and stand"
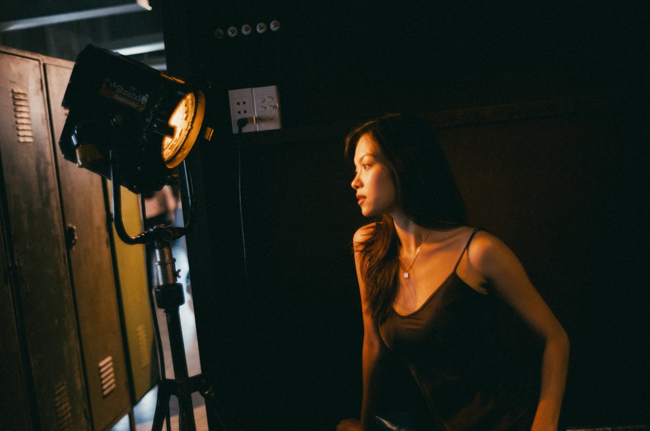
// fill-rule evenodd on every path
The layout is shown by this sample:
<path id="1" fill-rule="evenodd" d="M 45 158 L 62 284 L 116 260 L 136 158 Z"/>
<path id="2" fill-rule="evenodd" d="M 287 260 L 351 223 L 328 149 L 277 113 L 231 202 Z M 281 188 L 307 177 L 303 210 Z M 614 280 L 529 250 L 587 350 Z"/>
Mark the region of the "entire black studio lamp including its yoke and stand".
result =
<path id="1" fill-rule="evenodd" d="M 161 373 L 153 415 L 155 431 L 162 431 L 164 419 L 169 417 L 171 395 L 178 399 L 181 431 L 196 429 L 192 393 L 198 391 L 206 401 L 214 400 L 212 386 L 201 375 L 188 375 L 179 315 L 185 296 L 177 282 L 170 247 L 170 241 L 183 236 L 190 226 L 191 181 L 185 169 L 190 207 L 187 217 L 183 216 L 185 227 L 156 225 L 136 236 L 124 228 L 118 189 L 125 186 L 146 193 L 175 182 L 176 168 L 192 146 L 212 137 L 213 130 L 207 125 L 208 90 L 207 84 L 193 88 L 125 56 L 88 45 L 77 56 L 62 101 L 69 109 L 59 140 L 64 158 L 112 180 L 112 221 L 122 241 L 155 247 L 159 284 L 153 291 L 158 308 L 166 314 L 174 365 L 174 380 Z M 157 345 L 162 364 L 162 343 Z"/>

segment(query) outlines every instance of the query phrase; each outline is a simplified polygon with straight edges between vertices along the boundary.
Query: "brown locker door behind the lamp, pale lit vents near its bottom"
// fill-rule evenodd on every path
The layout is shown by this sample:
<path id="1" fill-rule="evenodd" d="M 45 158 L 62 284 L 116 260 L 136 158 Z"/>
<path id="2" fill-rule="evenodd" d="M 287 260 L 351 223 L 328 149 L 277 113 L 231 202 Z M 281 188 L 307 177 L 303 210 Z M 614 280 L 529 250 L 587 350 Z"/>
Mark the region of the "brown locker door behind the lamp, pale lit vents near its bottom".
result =
<path id="1" fill-rule="evenodd" d="M 61 101 L 71 72 L 72 64 L 45 64 L 64 223 L 77 235 L 68 256 L 90 416 L 94 429 L 104 430 L 127 413 L 131 403 L 102 180 L 64 160 L 59 151 L 59 137 L 66 121 Z"/>

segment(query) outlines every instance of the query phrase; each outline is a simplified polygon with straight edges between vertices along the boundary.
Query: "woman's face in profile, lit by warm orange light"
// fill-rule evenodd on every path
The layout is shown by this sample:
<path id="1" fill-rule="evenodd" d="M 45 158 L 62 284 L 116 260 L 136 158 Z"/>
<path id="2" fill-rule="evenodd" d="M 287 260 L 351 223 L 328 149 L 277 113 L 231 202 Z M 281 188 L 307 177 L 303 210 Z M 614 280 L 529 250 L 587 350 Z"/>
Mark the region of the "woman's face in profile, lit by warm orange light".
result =
<path id="1" fill-rule="evenodd" d="M 351 185 L 357 192 L 361 214 L 373 217 L 394 212 L 395 184 L 379 146 L 369 133 L 362 135 L 357 142 L 354 166 L 356 173 Z"/>

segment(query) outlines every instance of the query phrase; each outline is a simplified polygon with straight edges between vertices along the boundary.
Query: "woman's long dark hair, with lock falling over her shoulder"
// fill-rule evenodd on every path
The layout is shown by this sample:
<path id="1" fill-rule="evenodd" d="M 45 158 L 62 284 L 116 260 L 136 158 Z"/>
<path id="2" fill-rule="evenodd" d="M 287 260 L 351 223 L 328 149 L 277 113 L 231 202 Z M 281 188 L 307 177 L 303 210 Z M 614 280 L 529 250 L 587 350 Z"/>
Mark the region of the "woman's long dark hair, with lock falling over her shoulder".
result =
<path id="1" fill-rule="evenodd" d="M 372 136 L 382 152 L 396 199 L 409 219 L 426 228 L 465 225 L 465 205 L 432 127 L 407 114 L 369 121 L 346 138 L 345 154 L 350 162 L 365 134 Z M 356 247 L 370 313 L 382 321 L 393 306 L 398 286 L 399 243 L 393 219 L 384 214 Z"/>

